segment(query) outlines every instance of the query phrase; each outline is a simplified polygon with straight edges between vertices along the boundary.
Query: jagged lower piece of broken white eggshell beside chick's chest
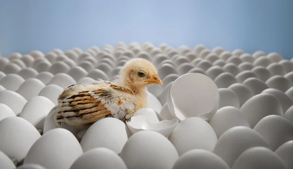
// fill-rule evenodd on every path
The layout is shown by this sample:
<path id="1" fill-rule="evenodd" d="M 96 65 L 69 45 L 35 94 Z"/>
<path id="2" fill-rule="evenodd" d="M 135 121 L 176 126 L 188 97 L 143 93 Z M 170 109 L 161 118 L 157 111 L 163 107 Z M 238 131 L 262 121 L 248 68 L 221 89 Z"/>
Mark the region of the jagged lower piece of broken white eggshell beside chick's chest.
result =
<path id="1" fill-rule="evenodd" d="M 136 115 L 131 117 L 131 121 L 126 122 L 128 129 L 132 134 L 138 131 L 157 131 L 168 137 L 178 125 L 177 119 L 162 120 L 157 123 L 150 122 L 145 115 Z"/>

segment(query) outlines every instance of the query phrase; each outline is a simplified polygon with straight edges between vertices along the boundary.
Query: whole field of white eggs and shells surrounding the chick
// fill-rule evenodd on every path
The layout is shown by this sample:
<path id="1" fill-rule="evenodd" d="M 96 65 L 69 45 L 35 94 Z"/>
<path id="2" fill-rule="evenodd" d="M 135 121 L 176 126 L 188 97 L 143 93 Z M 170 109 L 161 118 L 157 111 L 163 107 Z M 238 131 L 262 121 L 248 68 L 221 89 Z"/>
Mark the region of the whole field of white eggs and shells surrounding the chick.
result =
<path id="1" fill-rule="evenodd" d="M 132 58 L 150 61 L 163 82 L 146 87 L 145 107 L 126 122 L 56 123 L 64 88 L 113 81 Z M 151 42 L 1 56 L 0 169 L 292 169 L 293 59 L 285 58 Z"/>

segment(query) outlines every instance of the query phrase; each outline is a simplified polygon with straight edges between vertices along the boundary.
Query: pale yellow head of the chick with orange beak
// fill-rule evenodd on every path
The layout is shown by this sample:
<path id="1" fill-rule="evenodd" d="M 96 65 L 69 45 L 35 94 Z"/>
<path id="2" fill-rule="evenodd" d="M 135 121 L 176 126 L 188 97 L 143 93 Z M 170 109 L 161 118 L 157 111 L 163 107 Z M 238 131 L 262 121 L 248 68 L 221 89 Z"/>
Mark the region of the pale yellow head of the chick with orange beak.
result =
<path id="1" fill-rule="evenodd" d="M 144 58 L 134 58 L 126 62 L 120 73 L 121 81 L 129 87 L 146 87 L 150 84 L 163 85 L 157 69 Z"/>

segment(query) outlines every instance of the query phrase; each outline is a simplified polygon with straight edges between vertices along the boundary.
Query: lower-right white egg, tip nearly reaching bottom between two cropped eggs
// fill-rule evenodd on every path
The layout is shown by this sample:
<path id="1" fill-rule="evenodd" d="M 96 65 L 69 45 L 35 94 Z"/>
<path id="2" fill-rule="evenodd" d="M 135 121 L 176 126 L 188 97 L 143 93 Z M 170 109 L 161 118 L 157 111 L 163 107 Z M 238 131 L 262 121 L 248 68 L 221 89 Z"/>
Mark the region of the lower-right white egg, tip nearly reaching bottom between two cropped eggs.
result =
<path id="1" fill-rule="evenodd" d="M 242 152 L 257 146 L 270 147 L 256 131 L 248 127 L 236 126 L 221 135 L 213 152 L 231 167 Z"/>

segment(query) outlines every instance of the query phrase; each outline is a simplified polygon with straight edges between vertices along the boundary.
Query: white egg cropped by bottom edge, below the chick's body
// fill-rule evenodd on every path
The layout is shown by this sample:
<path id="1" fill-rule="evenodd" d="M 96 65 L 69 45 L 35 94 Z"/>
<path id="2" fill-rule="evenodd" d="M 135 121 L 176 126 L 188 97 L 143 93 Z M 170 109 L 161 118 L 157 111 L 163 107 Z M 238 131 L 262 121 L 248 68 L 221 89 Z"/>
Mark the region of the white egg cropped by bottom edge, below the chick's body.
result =
<path id="1" fill-rule="evenodd" d="M 95 148 L 76 159 L 70 169 L 127 169 L 127 167 L 114 151 Z"/>

